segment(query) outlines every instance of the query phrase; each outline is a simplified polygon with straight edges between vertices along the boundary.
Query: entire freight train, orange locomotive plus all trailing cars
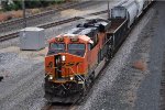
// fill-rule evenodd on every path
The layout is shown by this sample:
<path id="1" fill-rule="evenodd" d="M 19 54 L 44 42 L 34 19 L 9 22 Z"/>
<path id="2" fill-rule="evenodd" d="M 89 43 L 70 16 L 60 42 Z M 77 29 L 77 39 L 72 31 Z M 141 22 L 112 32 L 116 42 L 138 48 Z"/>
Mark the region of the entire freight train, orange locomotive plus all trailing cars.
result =
<path id="1" fill-rule="evenodd" d="M 45 57 L 45 98 L 70 102 L 84 95 L 151 3 L 124 1 L 111 9 L 110 20 L 85 20 L 68 33 L 51 38 Z"/>

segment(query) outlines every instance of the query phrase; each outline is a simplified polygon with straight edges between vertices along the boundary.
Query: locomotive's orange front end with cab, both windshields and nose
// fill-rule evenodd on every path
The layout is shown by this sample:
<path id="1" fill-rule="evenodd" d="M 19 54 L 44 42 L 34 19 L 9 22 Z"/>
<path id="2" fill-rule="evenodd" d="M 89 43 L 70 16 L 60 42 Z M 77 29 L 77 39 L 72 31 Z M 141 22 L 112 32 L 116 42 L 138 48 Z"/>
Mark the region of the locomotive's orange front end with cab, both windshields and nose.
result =
<path id="1" fill-rule="evenodd" d="M 65 34 L 50 40 L 48 43 L 45 57 L 45 90 L 56 92 L 55 95 L 61 92 L 62 88 L 69 94 L 79 91 L 88 70 L 89 45 L 94 42 L 86 35 Z M 54 90 L 52 87 L 62 88 Z"/>

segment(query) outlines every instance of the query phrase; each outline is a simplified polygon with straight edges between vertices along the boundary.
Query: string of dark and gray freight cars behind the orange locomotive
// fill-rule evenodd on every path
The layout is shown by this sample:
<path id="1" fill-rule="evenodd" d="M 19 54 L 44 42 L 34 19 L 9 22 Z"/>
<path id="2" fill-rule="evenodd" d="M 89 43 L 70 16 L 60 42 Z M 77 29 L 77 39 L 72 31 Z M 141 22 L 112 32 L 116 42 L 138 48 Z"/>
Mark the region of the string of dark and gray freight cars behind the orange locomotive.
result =
<path id="1" fill-rule="evenodd" d="M 111 56 L 113 56 L 123 40 L 125 40 L 127 34 L 131 31 L 133 23 L 140 19 L 142 12 L 144 12 L 151 3 L 152 2 L 147 1 L 147 3 L 144 6 L 144 0 L 141 0 L 141 2 L 138 2 L 138 0 L 130 0 L 111 9 L 111 28 L 107 32 L 107 40 L 111 38 L 112 44 L 110 45 Z M 138 7 L 142 4 L 143 8 Z"/>

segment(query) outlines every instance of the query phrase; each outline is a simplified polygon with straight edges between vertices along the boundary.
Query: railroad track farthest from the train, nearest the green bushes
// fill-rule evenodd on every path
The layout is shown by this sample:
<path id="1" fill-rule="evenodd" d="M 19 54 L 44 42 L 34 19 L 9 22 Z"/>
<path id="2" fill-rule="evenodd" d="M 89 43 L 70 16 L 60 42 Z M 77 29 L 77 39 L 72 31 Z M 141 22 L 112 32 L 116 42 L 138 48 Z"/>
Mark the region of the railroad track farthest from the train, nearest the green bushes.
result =
<path id="1" fill-rule="evenodd" d="M 54 16 L 56 16 L 61 11 L 70 9 L 70 8 L 78 8 L 79 6 L 88 6 L 91 4 L 91 1 L 80 1 L 75 3 L 67 3 L 62 6 L 61 8 L 57 8 L 55 10 L 50 10 L 46 12 L 42 12 L 35 15 L 29 15 L 26 16 L 26 23 L 28 26 L 34 26 L 42 23 L 47 23 L 54 21 Z M 9 33 L 11 31 L 21 30 L 23 28 L 23 19 L 16 19 L 16 20 L 10 20 L 7 22 L 0 23 L 0 33 Z"/>

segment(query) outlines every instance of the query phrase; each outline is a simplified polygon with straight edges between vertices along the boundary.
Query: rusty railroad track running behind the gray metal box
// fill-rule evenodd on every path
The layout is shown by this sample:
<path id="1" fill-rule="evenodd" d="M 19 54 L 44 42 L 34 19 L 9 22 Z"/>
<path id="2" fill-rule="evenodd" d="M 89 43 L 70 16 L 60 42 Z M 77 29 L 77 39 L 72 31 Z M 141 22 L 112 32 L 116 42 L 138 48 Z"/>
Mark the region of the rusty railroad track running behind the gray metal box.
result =
<path id="1" fill-rule="evenodd" d="M 107 12 L 107 10 L 99 11 L 99 12 L 94 12 L 94 13 L 87 14 L 87 16 L 88 15 L 99 15 L 99 14 L 103 14 L 106 12 Z M 70 18 L 70 19 L 66 19 L 66 20 L 62 20 L 62 21 L 50 22 L 50 23 L 46 23 L 46 24 L 42 24 L 38 28 L 48 29 L 48 28 L 62 25 L 62 24 L 65 24 L 65 23 L 74 22 L 74 21 L 77 21 L 77 20 L 80 20 L 80 19 L 84 19 L 84 18 L 75 16 L 75 18 Z M 10 38 L 14 38 L 14 37 L 18 37 L 18 36 L 19 36 L 19 32 L 13 32 L 13 33 L 10 33 L 8 35 L 0 36 L 0 42 L 7 41 L 7 40 L 10 40 Z"/>

